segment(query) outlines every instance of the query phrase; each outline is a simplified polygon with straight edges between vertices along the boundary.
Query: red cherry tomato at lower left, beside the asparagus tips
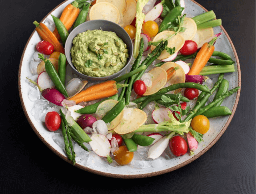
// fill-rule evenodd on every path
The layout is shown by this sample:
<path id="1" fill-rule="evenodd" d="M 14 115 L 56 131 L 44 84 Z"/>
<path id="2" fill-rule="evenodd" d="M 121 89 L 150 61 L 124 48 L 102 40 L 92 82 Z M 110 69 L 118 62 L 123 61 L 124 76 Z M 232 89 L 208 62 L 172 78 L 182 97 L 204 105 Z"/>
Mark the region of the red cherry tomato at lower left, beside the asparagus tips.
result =
<path id="1" fill-rule="evenodd" d="M 55 111 L 48 112 L 45 116 L 45 125 L 49 131 L 58 130 L 61 126 L 61 121 L 61 116 Z"/>

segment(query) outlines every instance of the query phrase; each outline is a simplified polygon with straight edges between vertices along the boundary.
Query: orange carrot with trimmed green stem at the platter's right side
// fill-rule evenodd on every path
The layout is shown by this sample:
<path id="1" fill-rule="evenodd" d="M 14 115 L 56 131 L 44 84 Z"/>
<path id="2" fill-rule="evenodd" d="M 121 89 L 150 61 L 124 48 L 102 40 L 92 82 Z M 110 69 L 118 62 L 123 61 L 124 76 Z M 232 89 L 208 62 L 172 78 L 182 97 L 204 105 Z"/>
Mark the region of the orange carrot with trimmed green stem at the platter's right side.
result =
<path id="1" fill-rule="evenodd" d="M 207 64 L 208 60 L 213 54 L 214 51 L 214 42 L 218 37 L 214 37 L 209 43 L 204 43 L 202 48 L 196 54 L 193 65 L 190 69 L 188 75 L 198 75 L 203 67 Z"/>

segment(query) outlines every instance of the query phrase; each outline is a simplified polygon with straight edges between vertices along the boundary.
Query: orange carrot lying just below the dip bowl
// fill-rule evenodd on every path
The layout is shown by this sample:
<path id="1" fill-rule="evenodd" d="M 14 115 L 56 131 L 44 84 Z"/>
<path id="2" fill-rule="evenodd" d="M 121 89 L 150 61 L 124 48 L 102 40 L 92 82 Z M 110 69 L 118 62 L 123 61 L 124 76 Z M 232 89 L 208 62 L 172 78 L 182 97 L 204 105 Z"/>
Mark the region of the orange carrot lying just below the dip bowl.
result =
<path id="1" fill-rule="evenodd" d="M 76 104 L 83 101 L 91 101 L 100 99 L 103 97 L 111 97 L 118 93 L 118 88 L 127 87 L 128 84 L 119 84 L 114 80 L 105 81 L 93 86 L 90 86 L 86 90 L 81 91 L 74 97 L 68 98 L 73 100 Z"/>

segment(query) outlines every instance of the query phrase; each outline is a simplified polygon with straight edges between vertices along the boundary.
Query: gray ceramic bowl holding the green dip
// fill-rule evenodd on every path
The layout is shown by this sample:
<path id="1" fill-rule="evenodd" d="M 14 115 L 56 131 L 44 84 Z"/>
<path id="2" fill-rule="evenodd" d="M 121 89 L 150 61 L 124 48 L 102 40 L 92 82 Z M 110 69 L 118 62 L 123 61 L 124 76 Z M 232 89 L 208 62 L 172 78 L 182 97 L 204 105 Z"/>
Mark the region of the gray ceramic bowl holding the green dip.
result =
<path id="1" fill-rule="evenodd" d="M 88 76 L 88 75 L 78 72 L 76 70 L 76 68 L 73 66 L 71 54 L 70 54 L 70 50 L 73 46 L 73 44 L 72 44 L 73 39 L 79 33 L 85 32 L 87 30 L 94 30 L 94 29 L 102 29 L 103 31 L 115 32 L 117 34 L 117 36 L 119 38 L 121 38 L 125 44 L 127 44 L 127 48 L 129 50 L 129 58 L 128 58 L 126 66 L 119 72 L 114 73 L 109 76 L 106 76 L 106 77 L 91 77 L 91 76 Z M 107 21 L 107 20 L 92 20 L 92 21 L 88 21 L 83 24 L 80 24 L 72 30 L 72 32 L 69 34 L 68 38 L 66 39 L 65 55 L 66 55 L 68 64 L 72 68 L 72 71 L 74 73 L 76 73 L 78 76 L 80 76 L 81 78 L 86 79 L 86 80 L 92 80 L 92 81 L 104 81 L 104 80 L 114 79 L 115 77 L 119 76 L 121 73 L 125 73 L 126 70 L 128 70 L 129 63 L 130 63 L 130 61 L 132 59 L 132 55 L 133 55 L 133 45 L 132 45 L 132 41 L 131 41 L 128 33 L 120 25 L 115 24 L 110 21 Z"/>

